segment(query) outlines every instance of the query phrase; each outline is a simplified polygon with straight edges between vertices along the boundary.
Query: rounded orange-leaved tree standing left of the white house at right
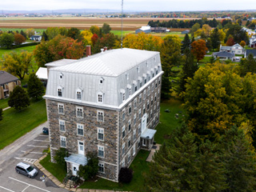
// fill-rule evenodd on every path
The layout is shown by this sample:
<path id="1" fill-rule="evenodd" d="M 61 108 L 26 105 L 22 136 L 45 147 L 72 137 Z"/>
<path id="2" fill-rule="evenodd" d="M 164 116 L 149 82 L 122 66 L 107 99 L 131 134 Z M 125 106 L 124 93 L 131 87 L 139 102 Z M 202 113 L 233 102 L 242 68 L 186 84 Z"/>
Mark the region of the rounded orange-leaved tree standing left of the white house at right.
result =
<path id="1" fill-rule="evenodd" d="M 192 42 L 191 47 L 191 52 L 194 54 L 194 57 L 198 59 L 198 62 L 205 57 L 206 51 L 208 50 L 206 41 L 202 39 Z"/>

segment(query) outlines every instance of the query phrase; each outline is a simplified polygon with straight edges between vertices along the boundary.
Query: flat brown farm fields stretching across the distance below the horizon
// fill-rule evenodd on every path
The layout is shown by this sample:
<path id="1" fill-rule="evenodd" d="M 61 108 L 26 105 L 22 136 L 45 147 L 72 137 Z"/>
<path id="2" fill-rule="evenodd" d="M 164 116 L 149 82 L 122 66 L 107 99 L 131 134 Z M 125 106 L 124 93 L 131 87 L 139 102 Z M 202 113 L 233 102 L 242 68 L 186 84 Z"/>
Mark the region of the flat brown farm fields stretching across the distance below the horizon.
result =
<path id="1" fill-rule="evenodd" d="M 146 26 L 150 20 L 169 21 L 171 19 L 173 18 L 124 18 L 123 30 L 136 30 L 141 26 Z M 112 30 L 121 30 L 121 18 L 2 18 L 0 19 L 0 29 L 46 29 L 50 26 L 65 26 L 66 28 L 77 27 L 80 30 L 85 30 L 89 29 L 90 26 L 101 27 L 105 22 L 111 26 Z M 186 29 L 175 29 L 174 31 L 182 30 Z"/>

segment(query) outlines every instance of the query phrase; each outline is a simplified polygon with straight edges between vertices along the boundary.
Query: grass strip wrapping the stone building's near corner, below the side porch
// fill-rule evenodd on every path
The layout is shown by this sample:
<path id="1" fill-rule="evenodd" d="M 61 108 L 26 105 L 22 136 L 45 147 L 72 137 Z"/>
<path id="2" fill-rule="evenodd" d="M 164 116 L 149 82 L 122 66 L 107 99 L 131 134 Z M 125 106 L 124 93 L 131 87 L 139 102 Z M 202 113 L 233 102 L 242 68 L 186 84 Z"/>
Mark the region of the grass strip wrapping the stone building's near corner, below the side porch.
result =
<path id="1" fill-rule="evenodd" d="M 80 188 L 83 189 L 102 189 L 102 190 L 130 190 L 138 191 L 144 184 L 145 174 L 149 173 L 149 162 L 146 162 L 146 158 L 150 154 L 149 151 L 140 150 L 134 159 L 134 162 L 130 165 L 130 168 L 134 170 L 134 178 L 129 184 L 122 184 L 118 182 L 110 182 L 109 180 L 99 178 L 98 182 L 84 182 Z"/>

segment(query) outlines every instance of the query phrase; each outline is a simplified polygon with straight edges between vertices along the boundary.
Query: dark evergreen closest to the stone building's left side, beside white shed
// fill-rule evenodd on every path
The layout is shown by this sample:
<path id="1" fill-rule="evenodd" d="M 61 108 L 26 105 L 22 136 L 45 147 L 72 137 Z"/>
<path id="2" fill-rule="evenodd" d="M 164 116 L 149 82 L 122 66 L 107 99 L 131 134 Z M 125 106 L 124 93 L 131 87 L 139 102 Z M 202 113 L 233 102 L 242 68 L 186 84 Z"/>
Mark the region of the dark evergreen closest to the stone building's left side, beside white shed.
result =
<path id="1" fill-rule="evenodd" d="M 30 74 L 27 85 L 27 92 L 30 98 L 35 98 L 36 100 L 42 98 L 42 95 L 44 94 L 45 90 L 43 88 L 42 82 L 39 80 L 36 74 Z"/>

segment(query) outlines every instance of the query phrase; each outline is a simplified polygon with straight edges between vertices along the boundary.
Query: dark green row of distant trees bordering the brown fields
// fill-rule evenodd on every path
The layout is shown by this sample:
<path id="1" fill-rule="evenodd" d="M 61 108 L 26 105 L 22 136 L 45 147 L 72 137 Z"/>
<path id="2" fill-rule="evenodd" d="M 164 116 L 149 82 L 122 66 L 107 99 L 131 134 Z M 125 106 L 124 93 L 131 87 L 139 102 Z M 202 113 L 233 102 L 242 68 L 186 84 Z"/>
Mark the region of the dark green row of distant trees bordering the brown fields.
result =
<path id="1" fill-rule="evenodd" d="M 198 23 L 201 27 L 204 24 L 207 24 L 211 27 L 216 27 L 218 26 L 217 20 L 214 18 L 213 20 L 207 20 L 207 18 L 202 18 L 202 19 L 193 19 L 193 20 L 178 20 L 178 19 L 172 19 L 170 21 L 153 21 L 151 20 L 148 22 L 148 25 L 151 27 L 170 27 L 170 28 L 191 28 L 194 26 L 195 23 Z"/>

